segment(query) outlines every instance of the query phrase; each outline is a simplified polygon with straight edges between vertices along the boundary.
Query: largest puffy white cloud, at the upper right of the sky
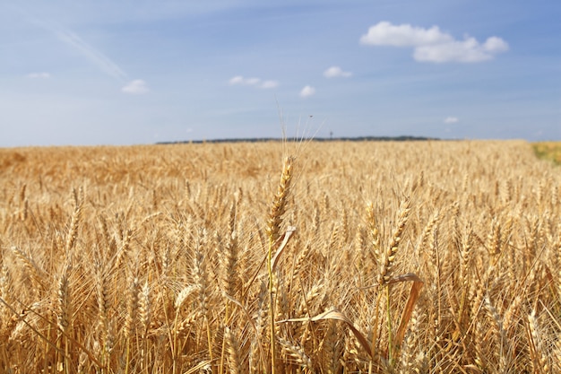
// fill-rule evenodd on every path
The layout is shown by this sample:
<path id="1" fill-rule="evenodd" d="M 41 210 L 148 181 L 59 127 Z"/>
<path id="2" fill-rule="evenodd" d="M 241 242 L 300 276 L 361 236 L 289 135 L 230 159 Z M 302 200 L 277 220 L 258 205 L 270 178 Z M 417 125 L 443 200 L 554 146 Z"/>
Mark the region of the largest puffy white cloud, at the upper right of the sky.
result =
<path id="1" fill-rule="evenodd" d="M 505 40 L 488 38 L 483 44 L 475 38 L 456 40 L 437 26 L 430 29 L 413 27 L 410 24 L 393 25 L 379 22 L 360 38 L 362 44 L 414 48 L 413 58 L 419 62 L 475 63 L 490 60 L 497 53 L 508 50 Z"/>

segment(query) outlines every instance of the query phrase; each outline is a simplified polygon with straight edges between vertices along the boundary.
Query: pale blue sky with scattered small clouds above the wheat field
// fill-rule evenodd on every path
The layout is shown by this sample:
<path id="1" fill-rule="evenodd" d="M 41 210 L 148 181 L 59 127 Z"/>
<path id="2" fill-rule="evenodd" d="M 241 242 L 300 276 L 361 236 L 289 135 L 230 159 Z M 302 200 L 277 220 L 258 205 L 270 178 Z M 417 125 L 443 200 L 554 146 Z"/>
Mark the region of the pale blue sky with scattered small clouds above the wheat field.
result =
<path id="1" fill-rule="evenodd" d="M 561 140 L 558 0 L 0 2 L 0 147 Z"/>

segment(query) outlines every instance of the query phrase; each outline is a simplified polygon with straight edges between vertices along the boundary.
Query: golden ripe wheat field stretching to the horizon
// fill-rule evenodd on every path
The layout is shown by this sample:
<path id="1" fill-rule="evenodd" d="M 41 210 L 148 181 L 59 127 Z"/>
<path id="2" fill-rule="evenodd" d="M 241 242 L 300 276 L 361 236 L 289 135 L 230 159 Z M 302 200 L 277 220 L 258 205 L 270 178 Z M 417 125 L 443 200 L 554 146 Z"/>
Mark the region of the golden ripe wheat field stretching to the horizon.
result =
<path id="1" fill-rule="evenodd" d="M 0 371 L 561 370 L 531 144 L 0 150 Z"/>

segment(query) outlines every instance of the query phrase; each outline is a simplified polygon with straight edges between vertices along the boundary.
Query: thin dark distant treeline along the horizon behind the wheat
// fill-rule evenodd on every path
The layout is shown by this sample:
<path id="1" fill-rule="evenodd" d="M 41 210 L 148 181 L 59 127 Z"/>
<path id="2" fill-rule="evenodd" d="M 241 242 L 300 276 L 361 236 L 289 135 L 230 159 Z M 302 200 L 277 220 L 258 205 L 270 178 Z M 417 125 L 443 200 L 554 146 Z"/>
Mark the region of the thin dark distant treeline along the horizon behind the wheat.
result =
<path id="1" fill-rule="evenodd" d="M 405 141 L 426 141 L 440 140 L 434 137 L 425 136 L 357 136 L 357 137 L 314 137 L 305 139 L 312 142 L 405 142 Z M 258 137 L 258 138 L 232 138 L 232 139 L 208 139 L 208 140 L 184 140 L 177 142 L 158 142 L 157 144 L 203 144 L 203 143 L 258 143 L 258 142 L 301 142 L 302 138 L 274 138 L 274 137 Z"/>

